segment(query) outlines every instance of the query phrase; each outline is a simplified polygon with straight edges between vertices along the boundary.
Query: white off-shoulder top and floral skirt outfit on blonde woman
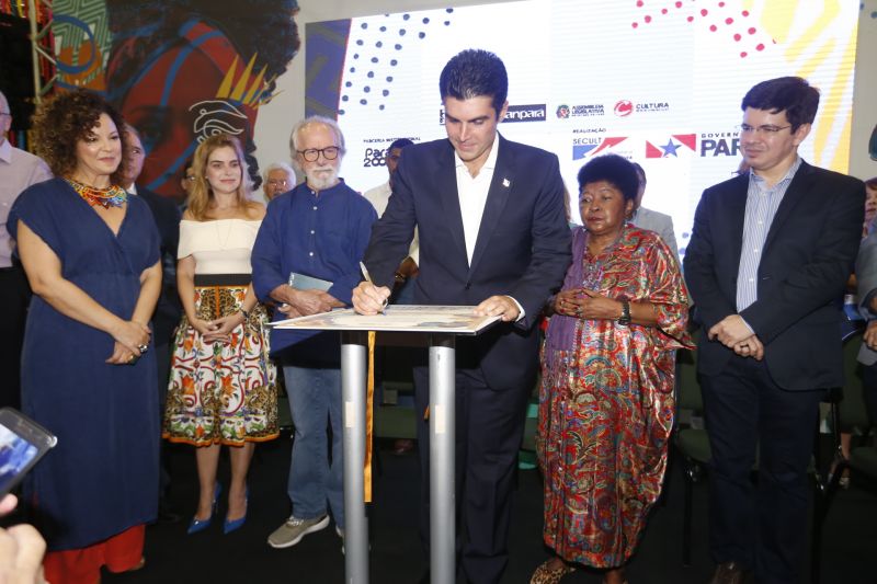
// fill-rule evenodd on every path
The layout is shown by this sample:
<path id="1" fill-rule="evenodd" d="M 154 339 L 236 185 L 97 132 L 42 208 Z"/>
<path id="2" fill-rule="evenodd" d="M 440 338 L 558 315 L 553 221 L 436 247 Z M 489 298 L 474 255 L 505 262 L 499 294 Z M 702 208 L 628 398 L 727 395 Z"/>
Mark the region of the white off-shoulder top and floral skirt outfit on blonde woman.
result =
<path id="1" fill-rule="evenodd" d="M 250 284 L 250 251 L 261 221 L 183 220 L 179 257 L 195 257 L 195 311 L 234 314 Z M 206 342 L 183 314 L 173 342 L 163 437 L 195 446 L 276 438 L 276 368 L 269 359 L 267 314 L 257 305 L 228 343 Z"/>

